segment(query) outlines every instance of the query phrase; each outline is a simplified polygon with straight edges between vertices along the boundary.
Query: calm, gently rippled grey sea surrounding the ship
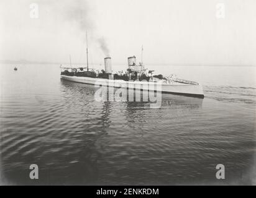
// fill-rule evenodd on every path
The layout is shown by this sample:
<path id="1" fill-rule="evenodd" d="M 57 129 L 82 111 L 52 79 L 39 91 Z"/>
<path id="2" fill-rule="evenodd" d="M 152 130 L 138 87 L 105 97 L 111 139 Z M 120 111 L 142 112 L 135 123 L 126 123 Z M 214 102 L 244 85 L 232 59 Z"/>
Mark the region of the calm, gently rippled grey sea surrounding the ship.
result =
<path id="1" fill-rule="evenodd" d="M 13 67 L 0 66 L 2 184 L 255 183 L 256 67 L 151 66 L 204 85 L 203 100 L 165 95 L 160 109 L 97 102 L 59 66 Z"/>

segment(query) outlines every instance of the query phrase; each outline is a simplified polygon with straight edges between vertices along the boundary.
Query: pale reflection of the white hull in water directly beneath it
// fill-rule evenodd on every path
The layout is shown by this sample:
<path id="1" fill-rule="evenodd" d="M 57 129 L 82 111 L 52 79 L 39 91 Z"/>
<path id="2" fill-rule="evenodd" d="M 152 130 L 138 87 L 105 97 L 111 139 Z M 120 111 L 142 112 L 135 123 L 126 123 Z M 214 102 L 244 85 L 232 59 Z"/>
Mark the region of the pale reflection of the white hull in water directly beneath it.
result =
<path id="1" fill-rule="evenodd" d="M 196 97 L 186 97 L 182 95 L 173 95 L 169 93 L 154 93 L 154 92 L 147 92 L 142 90 L 131 90 L 131 89 L 124 89 L 124 88 L 111 88 L 111 87 L 97 87 L 94 85 L 89 84 L 78 84 L 76 82 L 70 82 L 66 80 L 62 80 L 62 85 L 66 86 L 67 88 L 71 87 L 72 85 L 76 85 L 78 87 L 81 87 L 81 89 L 85 88 L 86 90 L 89 90 L 89 93 L 94 95 L 97 94 L 96 92 L 101 89 L 99 93 L 99 99 L 101 101 L 110 102 L 113 101 L 114 103 L 122 103 L 122 105 L 126 105 L 126 108 L 129 110 L 129 108 L 134 108 L 134 110 L 143 110 L 148 108 L 201 108 L 203 104 L 202 98 L 196 98 Z M 109 92 L 109 88 L 113 89 L 113 91 Z M 122 98 L 122 94 L 118 95 L 118 98 L 116 98 L 116 93 L 119 91 L 119 93 L 125 93 L 124 98 L 126 98 L 126 101 L 124 101 L 124 98 Z M 83 97 L 84 91 L 81 90 L 81 96 Z M 104 94 L 106 96 L 104 96 Z M 130 97 L 132 95 L 132 97 Z M 146 96 L 144 96 L 146 95 Z M 139 96 L 139 99 L 138 97 Z M 122 101 L 121 101 L 122 100 Z M 139 100 L 139 101 L 138 101 Z M 157 104 L 152 105 L 150 104 Z M 135 112 L 134 112 L 135 113 Z"/>

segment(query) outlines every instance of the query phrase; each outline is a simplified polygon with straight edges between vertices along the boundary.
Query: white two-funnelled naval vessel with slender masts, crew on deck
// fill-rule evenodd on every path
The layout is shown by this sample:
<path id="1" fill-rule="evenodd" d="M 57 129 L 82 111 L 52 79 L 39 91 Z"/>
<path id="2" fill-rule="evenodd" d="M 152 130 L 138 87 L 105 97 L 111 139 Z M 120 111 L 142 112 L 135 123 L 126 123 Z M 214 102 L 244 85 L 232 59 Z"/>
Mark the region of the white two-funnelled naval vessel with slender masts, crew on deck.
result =
<path id="1" fill-rule="evenodd" d="M 111 57 L 104 58 L 104 70 L 95 71 L 94 69 L 90 69 L 88 64 L 88 45 L 86 44 L 86 46 L 87 66 L 73 67 L 70 58 L 70 66 L 60 66 L 62 70 L 60 75 L 61 79 L 83 84 L 100 84 L 117 88 L 126 87 L 204 98 L 203 87 L 201 84 L 198 84 L 198 82 L 179 79 L 176 75 L 154 75 L 154 71 L 146 69 L 142 61 L 137 64 L 135 56 L 128 58 L 128 67 L 125 72 L 112 71 Z M 156 84 L 158 86 L 155 86 Z"/>

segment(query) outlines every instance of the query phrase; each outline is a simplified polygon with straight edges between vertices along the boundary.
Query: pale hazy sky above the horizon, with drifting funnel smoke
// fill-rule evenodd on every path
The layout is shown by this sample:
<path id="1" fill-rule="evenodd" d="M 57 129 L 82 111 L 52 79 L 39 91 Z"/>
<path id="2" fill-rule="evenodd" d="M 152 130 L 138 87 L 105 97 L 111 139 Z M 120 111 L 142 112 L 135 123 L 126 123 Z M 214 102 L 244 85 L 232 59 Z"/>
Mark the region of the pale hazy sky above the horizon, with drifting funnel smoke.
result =
<path id="1" fill-rule="evenodd" d="M 91 64 L 256 66 L 255 0 L 0 0 L 0 59 L 85 62 L 86 30 Z"/>

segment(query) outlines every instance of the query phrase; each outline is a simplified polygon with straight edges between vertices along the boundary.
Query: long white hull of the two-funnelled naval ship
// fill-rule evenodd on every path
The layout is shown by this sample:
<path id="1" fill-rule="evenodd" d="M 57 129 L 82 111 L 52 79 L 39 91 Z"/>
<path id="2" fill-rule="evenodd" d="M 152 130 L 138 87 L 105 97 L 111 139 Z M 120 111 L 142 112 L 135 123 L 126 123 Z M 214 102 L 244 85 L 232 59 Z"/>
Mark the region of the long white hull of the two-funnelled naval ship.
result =
<path id="1" fill-rule="evenodd" d="M 161 84 L 159 86 L 154 82 L 141 81 L 124 81 L 124 80 L 109 80 L 109 79 L 94 79 L 91 77 L 78 77 L 61 75 L 61 79 L 69 80 L 71 82 L 79 82 L 91 85 L 107 85 L 111 87 L 127 87 L 143 90 L 160 91 L 162 93 L 171 93 L 175 95 L 187 95 L 190 97 L 204 98 L 203 87 L 201 85 L 191 84 Z"/>

